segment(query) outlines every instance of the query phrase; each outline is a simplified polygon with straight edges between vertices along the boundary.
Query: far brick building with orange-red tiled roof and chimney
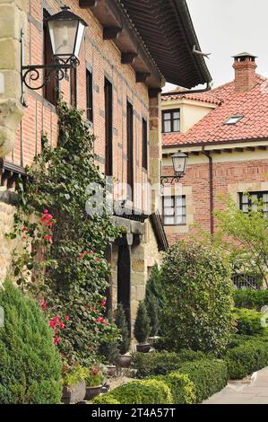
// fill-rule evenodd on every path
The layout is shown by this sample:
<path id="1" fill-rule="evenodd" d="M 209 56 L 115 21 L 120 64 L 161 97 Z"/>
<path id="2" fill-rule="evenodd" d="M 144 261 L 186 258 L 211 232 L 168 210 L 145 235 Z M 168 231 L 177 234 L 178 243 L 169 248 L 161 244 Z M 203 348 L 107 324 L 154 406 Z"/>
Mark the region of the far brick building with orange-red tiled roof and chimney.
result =
<path id="1" fill-rule="evenodd" d="M 255 72 L 255 58 L 234 57 L 234 81 L 212 91 L 162 96 L 163 173 L 173 172 L 170 155 L 188 154 L 180 191 L 175 195 L 173 187 L 172 198 L 164 199 L 170 243 L 187 238 L 192 224 L 214 233 L 212 212 L 222 207 L 220 196 L 229 194 L 246 212 L 243 194 L 249 192 L 268 207 L 268 91 L 267 81 Z M 186 121 L 179 127 L 176 117 Z"/>

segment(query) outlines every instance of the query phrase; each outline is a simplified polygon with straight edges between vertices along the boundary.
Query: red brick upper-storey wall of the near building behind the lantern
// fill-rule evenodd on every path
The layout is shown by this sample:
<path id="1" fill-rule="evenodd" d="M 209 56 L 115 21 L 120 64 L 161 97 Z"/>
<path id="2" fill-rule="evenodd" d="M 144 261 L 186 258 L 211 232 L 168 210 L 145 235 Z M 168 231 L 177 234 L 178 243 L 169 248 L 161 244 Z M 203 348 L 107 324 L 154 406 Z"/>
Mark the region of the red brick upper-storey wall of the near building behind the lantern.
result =
<path id="1" fill-rule="evenodd" d="M 148 120 L 149 129 L 149 98 L 144 84 L 136 84 L 135 73 L 131 66 L 121 65 L 121 53 L 112 41 L 102 40 L 102 27 L 92 13 L 79 7 L 78 0 L 66 0 L 71 7 L 84 19 L 89 27 L 85 32 L 80 52 L 80 66 L 77 71 L 77 105 L 79 109 L 86 108 L 86 66 L 91 66 L 93 75 L 93 132 L 96 136 L 94 153 L 100 170 L 104 170 L 105 132 L 104 132 L 104 78 L 108 77 L 113 84 L 114 107 L 114 177 L 118 181 L 126 180 L 126 101 L 131 101 L 134 107 L 134 181 L 147 181 L 147 172 L 143 171 L 142 161 L 142 119 Z M 28 29 L 26 31 L 27 63 L 43 63 L 43 7 L 49 13 L 59 11 L 56 0 L 28 0 Z M 70 85 L 60 83 L 65 101 L 70 100 Z M 55 107 L 42 97 L 42 90 L 28 91 L 28 108 L 17 131 L 17 140 L 13 153 L 5 157 L 9 162 L 22 166 L 30 164 L 34 154 L 40 151 L 40 134 L 44 131 L 49 141 L 56 145 L 57 119 Z"/>

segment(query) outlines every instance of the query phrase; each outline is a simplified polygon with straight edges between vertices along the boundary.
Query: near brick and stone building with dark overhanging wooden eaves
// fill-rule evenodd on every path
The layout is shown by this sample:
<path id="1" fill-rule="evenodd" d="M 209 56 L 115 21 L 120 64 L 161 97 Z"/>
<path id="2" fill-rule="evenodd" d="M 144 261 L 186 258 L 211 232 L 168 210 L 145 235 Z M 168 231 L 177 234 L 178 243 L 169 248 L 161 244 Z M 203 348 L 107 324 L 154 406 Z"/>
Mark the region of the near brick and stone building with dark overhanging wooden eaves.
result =
<path id="1" fill-rule="evenodd" d="M 4 0 L 0 4 L 0 280 L 12 251 L 4 233 L 13 224 L 14 181 L 40 152 L 42 131 L 56 145 L 55 105 L 60 91 L 65 101 L 85 110 L 85 119 L 96 136 L 94 154 L 99 170 L 134 188 L 130 199 L 124 189 L 115 194 L 116 201 L 127 199 L 133 211 L 123 217 L 114 215 L 126 233 L 108 247 L 110 300 L 123 302 L 134 320 L 150 268 L 168 245 L 156 209 L 160 189 L 151 195 L 149 205 L 146 189 L 140 189 L 148 182 L 160 181 L 161 88 L 165 79 L 191 88 L 208 83 L 211 76 L 203 57 L 193 54 L 198 40 L 186 1 L 142 0 L 138 7 L 133 0 L 65 3 L 88 25 L 80 66 L 70 71 L 67 80 L 57 82 L 53 75 L 43 89 L 26 89 L 23 100 L 27 108 L 22 105 L 21 59 L 24 65 L 51 64 L 46 19 L 63 4 L 59 0 Z M 48 71 L 44 71 L 46 76 Z M 28 78 L 27 82 L 31 88 L 39 85 L 39 80 Z M 139 209 L 140 215 L 134 214 L 134 209 Z"/>

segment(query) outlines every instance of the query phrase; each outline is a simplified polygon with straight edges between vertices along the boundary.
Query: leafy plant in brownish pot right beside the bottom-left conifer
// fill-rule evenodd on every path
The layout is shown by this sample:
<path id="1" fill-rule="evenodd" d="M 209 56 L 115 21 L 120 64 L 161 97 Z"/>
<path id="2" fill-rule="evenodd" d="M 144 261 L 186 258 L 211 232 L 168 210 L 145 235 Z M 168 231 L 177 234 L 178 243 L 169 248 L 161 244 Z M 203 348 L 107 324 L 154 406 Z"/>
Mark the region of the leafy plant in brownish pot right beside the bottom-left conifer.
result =
<path id="1" fill-rule="evenodd" d="M 62 402 L 75 404 L 82 401 L 86 395 L 85 372 L 81 365 L 64 367 Z"/>

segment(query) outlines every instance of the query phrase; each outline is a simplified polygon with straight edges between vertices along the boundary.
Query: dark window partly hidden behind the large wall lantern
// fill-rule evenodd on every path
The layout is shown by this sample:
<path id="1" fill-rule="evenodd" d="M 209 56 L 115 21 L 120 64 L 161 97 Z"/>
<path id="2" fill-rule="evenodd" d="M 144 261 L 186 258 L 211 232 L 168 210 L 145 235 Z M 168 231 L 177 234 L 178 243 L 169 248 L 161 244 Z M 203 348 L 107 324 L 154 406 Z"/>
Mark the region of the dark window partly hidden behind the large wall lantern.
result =
<path id="1" fill-rule="evenodd" d="M 46 22 L 46 20 L 49 17 L 49 13 L 47 12 L 47 10 L 43 11 L 43 19 L 44 19 L 44 23 L 43 23 L 43 49 L 44 49 L 44 57 L 43 57 L 43 61 L 44 61 L 44 65 L 48 66 L 51 65 L 53 63 L 53 51 L 52 51 L 52 47 L 51 47 L 51 41 L 50 41 L 50 36 L 49 36 L 49 31 L 48 31 L 48 24 Z M 46 76 L 48 76 L 48 72 L 49 70 L 44 70 L 44 78 L 46 78 Z M 46 100 L 48 100 L 49 102 L 51 102 L 51 104 L 56 105 L 56 102 L 58 101 L 58 81 L 56 79 L 56 77 L 51 77 L 50 81 L 48 82 L 48 84 L 46 84 L 43 88 L 43 96 Z"/>

